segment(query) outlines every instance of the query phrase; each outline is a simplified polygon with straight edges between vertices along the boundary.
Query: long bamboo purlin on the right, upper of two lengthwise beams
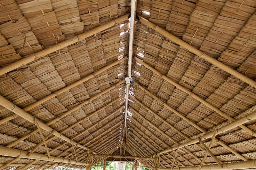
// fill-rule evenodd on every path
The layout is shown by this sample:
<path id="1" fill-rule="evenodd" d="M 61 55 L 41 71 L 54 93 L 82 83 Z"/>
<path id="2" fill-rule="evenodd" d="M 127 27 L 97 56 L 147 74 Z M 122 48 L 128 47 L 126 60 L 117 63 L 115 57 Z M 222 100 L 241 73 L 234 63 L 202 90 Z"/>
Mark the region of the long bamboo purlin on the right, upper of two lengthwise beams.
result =
<path id="1" fill-rule="evenodd" d="M 162 153 L 165 153 L 165 152 L 171 152 L 172 150 L 180 149 L 180 148 L 183 148 L 185 146 L 189 146 L 191 144 L 196 144 L 196 143 L 200 142 L 200 140 L 205 140 L 205 139 L 213 137 L 215 135 L 215 133 L 216 133 L 216 135 L 221 134 L 221 133 L 226 132 L 226 131 L 228 131 L 230 129 L 234 129 L 234 128 L 236 128 L 237 126 L 239 126 L 241 124 L 250 122 L 250 121 L 252 121 L 254 119 L 256 119 L 256 111 L 252 112 L 249 115 L 244 116 L 241 119 L 236 120 L 235 122 L 231 122 L 230 124 L 217 129 L 216 130 L 217 133 L 216 133 L 216 131 L 212 131 L 210 133 L 205 134 L 204 136 L 202 136 L 200 138 L 196 138 L 196 139 L 188 141 L 188 142 L 186 142 L 184 144 L 180 144 L 180 145 L 172 147 L 170 149 L 166 149 L 164 151 L 161 151 L 161 152 L 159 152 L 159 154 L 162 154 Z"/>

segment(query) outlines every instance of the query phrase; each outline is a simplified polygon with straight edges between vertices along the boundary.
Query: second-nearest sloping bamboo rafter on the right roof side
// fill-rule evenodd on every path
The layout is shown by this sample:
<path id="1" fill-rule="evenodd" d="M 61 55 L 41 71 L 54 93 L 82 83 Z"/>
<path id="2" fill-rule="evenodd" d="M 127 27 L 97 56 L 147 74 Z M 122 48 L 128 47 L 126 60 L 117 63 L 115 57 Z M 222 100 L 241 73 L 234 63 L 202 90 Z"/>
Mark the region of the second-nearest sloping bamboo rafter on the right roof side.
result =
<path id="1" fill-rule="evenodd" d="M 205 101 L 204 99 L 202 99 L 201 97 L 199 97 L 198 95 L 196 95 L 195 93 L 191 92 L 190 90 L 188 90 L 187 88 L 183 87 L 182 85 L 176 83 L 175 81 L 171 80 L 170 78 L 168 78 L 167 76 L 163 75 L 162 73 L 160 73 L 158 70 L 156 70 L 155 68 L 151 67 L 149 64 L 143 62 L 142 60 L 140 60 L 139 58 L 136 58 L 136 62 L 144 65 L 145 67 L 147 67 L 149 70 L 153 71 L 155 74 L 157 74 L 158 76 L 160 76 L 161 78 L 163 78 L 164 80 L 166 80 L 167 82 L 169 82 L 170 84 L 176 86 L 178 89 L 182 90 L 183 92 L 187 93 L 188 95 L 190 95 L 191 97 L 193 97 L 194 99 L 196 99 L 197 101 L 201 102 L 202 104 L 204 104 L 206 107 L 212 109 L 213 111 L 217 112 L 218 114 L 220 114 L 221 116 L 225 117 L 226 119 L 234 122 L 236 121 L 236 119 L 234 119 L 233 117 L 227 115 L 226 113 L 224 113 L 223 111 L 221 111 L 219 108 L 213 106 L 211 103 L 208 103 L 207 101 Z M 256 132 L 254 132 L 252 129 L 246 127 L 245 125 L 240 125 L 240 127 L 244 130 L 246 130 L 247 132 L 249 132 L 250 135 L 256 137 Z"/>

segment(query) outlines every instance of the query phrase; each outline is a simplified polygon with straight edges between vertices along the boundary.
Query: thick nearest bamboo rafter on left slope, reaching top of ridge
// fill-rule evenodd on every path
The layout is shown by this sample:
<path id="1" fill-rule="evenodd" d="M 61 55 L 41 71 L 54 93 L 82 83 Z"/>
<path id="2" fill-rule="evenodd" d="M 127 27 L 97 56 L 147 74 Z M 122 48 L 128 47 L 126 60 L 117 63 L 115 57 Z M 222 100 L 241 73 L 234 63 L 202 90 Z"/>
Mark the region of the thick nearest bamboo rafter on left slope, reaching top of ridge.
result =
<path id="1" fill-rule="evenodd" d="M 61 48 L 65 48 L 65 47 L 67 47 L 69 45 L 72 45 L 72 44 L 74 44 L 76 42 L 82 41 L 85 38 L 90 37 L 90 36 L 92 36 L 92 35 L 94 35 L 96 33 L 99 33 L 99 32 L 101 32 L 103 30 L 106 30 L 106 29 L 110 28 L 111 26 L 114 26 L 117 23 L 120 23 L 120 22 L 123 22 L 123 21 L 127 20 L 129 15 L 130 14 L 126 14 L 126 15 L 123 15 L 123 16 L 121 16 L 119 18 L 113 19 L 113 20 L 109 21 L 106 24 L 103 24 L 101 26 L 95 27 L 95 28 L 93 28 L 93 29 L 91 29 L 89 31 L 86 31 L 85 33 L 81 33 L 79 35 L 76 35 L 76 36 L 74 36 L 71 39 L 62 41 L 62 42 L 60 42 L 60 43 L 58 43 L 56 45 L 53 45 L 53 46 L 51 46 L 49 48 L 45 48 L 45 49 L 43 49 L 41 51 L 38 51 L 38 52 L 36 52 L 34 54 L 28 55 L 27 57 L 25 57 L 25 58 L 23 58 L 21 60 L 18 60 L 18 61 L 14 62 L 14 63 L 8 64 L 8 65 L 6 65 L 6 66 L 4 66 L 3 68 L 0 69 L 0 75 L 3 75 L 3 74 L 5 74 L 5 73 L 7 73 L 9 71 L 15 70 L 15 69 L 17 69 L 17 68 L 19 68 L 19 67 L 21 67 L 21 66 L 23 66 L 25 64 L 28 64 L 28 63 L 30 63 L 32 61 L 35 61 L 35 60 L 37 60 L 37 59 L 39 59 L 39 58 L 41 58 L 41 57 L 43 57 L 45 55 L 48 55 L 48 54 L 54 52 L 54 51 L 57 51 L 57 50 L 59 50 Z"/>

